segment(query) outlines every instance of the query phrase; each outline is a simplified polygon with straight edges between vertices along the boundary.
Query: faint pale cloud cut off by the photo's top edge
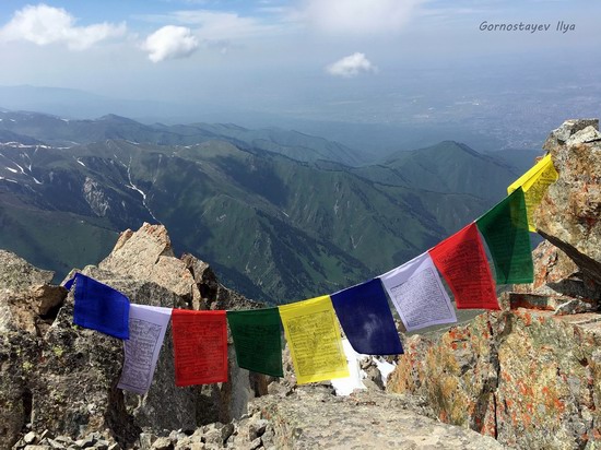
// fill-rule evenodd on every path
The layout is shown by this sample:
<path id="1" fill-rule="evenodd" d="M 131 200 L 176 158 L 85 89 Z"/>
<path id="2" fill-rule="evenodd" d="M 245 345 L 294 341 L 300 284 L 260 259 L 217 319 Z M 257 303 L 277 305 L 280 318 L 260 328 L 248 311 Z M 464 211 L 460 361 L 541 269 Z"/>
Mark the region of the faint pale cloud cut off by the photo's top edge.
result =
<path id="1" fill-rule="evenodd" d="M 425 0 L 306 0 L 304 15 L 332 34 L 399 32 Z"/>

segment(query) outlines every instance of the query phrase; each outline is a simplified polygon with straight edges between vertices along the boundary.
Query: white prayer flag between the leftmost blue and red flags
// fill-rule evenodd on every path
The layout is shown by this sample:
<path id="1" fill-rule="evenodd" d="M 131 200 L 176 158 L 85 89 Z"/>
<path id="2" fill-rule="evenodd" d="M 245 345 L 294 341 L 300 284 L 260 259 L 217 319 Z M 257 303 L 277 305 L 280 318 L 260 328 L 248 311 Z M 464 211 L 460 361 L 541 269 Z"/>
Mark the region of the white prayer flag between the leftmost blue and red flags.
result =
<path id="1" fill-rule="evenodd" d="M 148 392 L 170 318 L 170 308 L 130 306 L 129 339 L 123 344 L 123 369 L 117 388 L 140 395 Z"/>

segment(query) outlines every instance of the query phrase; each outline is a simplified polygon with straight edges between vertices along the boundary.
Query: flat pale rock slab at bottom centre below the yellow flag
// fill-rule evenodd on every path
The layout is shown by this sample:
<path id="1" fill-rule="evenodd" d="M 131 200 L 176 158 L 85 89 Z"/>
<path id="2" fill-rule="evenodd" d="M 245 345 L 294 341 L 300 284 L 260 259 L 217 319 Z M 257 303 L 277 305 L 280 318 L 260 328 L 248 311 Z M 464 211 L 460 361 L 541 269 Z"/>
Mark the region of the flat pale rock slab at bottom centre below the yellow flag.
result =
<path id="1" fill-rule="evenodd" d="M 490 437 L 416 414 L 401 395 L 377 391 L 339 398 L 303 389 L 285 399 L 257 399 L 254 408 L 273 426 L 275 442 L 263 446 L 278 449 L 502 448 Z"/>

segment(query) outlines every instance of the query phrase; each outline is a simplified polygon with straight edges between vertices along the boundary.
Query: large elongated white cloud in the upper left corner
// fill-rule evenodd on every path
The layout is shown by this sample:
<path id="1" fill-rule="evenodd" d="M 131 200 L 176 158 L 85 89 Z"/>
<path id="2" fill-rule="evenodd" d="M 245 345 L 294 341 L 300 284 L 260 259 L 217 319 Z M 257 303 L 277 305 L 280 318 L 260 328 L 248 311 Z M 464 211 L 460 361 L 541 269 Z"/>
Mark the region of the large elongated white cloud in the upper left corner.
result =
<path id="1" fill-rule="evenodd" d="M 76 19 L 62 8 L 44 3 L 26 5 L 0 28 L 0 40 L 26 40 L 39 46 L 60 43 L 71 50 L 85 50 L 101 40 L 122 36 L 127 31 L 125 23 L 75 26 L 75 22 Z"/>

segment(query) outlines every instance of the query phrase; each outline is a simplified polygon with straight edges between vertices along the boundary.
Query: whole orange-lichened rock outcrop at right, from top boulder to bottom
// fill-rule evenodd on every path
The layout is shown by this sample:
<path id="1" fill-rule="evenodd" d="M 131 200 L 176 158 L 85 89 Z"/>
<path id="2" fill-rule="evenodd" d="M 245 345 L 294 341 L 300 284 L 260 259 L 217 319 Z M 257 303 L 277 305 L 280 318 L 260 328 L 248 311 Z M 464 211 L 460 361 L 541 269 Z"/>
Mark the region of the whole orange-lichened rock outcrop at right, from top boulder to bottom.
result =
<path id="1" fill-rule="evenodd" d="M 434 338 L 415 335 L 388 380 L 423 395 L 440 419 L 523 449 L 601 440 L 601 135 L 571 120 L 545 143 L 559 179 L 534 213 L 549 241 L 533 284 L 504 310 Z"/>

